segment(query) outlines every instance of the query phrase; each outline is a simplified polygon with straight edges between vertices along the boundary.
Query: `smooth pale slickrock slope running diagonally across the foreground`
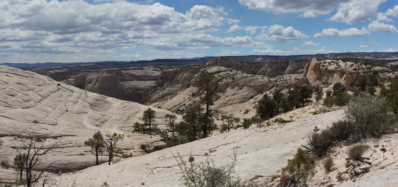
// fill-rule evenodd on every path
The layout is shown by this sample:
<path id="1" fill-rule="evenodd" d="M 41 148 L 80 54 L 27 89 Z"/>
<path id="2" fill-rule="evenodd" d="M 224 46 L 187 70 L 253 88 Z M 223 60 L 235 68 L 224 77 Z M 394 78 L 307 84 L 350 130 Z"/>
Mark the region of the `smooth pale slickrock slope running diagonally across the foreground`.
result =
<path id="1" fill-rule="evenodd" d="M 177 187 L 181 185 L 180 169 L 173 154 L 180 153 L 188 160 L 190 152 L 195 162 L 203 162 L 205 154 L 216 165 L 225 165 L 231 160 L 237 147 L 239 175 L 251 179 L 255 175 L 269 176 L 286 166 L 297 148 L 307 141 L 307 133 L 315 126 L 325 128 L 343 117 L 343 111 L 332 111 L 300 119 L 295 122 L 262 127 L 233 130 L 200 139 L 187 144 L 160 150 L 139 157 L 127 158 L 111 166 L 102 164 L 79 171 L 76 174 L 61 175 L 62 187 L 75 181 L 85 187 L 99 187 L 106 182 L 111 187 Z"/>

